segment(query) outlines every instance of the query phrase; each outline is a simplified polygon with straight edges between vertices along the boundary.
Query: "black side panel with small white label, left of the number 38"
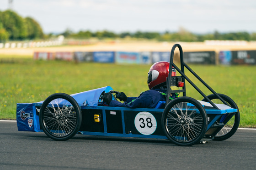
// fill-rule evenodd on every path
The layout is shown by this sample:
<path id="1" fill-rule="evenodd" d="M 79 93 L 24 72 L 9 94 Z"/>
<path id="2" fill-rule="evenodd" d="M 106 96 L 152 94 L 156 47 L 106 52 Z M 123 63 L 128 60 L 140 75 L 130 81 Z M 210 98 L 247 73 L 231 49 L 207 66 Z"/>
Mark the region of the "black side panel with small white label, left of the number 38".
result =
<path id="1" fill-rule="evenodd" d="M 123 134 L 122 112 L 120 110 L 106 110 L 107 133 Z"/>

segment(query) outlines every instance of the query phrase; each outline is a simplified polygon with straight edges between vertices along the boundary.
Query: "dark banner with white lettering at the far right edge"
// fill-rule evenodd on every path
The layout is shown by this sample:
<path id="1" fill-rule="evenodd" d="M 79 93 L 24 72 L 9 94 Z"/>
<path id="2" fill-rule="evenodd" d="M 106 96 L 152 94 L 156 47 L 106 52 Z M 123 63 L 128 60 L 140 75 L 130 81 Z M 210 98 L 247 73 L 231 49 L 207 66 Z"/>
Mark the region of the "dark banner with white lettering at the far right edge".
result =
<path id="1" fill-rule="evenodd" d="M 256 50 L 249 51 L 231 51 L 232 60 L 231 64 L 240 65 L 255 65 L 256 64 Z"/>

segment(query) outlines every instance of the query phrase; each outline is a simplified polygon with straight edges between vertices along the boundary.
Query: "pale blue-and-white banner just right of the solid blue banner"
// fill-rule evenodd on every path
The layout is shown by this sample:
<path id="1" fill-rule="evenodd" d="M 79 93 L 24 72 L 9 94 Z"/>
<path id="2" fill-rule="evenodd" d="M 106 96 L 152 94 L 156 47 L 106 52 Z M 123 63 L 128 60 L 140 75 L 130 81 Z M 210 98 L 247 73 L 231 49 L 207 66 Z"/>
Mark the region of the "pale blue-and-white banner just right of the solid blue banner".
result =
<path id="1" fill-rule="evenodd" d="M 138 52 L 116 52 L 116 63 L 139 64 Z"/>

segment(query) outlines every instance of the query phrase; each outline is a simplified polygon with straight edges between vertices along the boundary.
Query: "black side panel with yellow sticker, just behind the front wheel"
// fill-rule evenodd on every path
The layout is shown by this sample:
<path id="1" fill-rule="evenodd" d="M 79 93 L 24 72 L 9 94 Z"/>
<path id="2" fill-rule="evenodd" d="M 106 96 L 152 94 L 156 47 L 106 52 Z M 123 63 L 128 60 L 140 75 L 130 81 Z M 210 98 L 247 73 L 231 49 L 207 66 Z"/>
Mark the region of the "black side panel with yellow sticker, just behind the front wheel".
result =
<path id="1" fill-rule="evenodd" d="M 100 115 L 100 121 L 94 121 L 94 115 Z M 79 131 L 104 132 L 102 110 L 82 109 L 82 123 Z"/>

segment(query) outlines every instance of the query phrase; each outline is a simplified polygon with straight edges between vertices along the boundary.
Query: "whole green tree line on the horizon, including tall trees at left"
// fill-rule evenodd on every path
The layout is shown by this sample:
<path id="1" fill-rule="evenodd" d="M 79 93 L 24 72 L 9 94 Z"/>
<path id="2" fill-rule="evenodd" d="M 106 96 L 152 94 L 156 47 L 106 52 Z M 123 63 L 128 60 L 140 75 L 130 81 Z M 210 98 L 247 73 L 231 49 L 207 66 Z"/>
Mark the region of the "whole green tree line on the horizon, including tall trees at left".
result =
<path id="1" fill-rule="evenodd" d="M 35 39 L 47 39 L 56 34 L 44 34 L 41 26 L 36 20 L 31 17 L 22 18 L 16 12 L 12 10 L 0 11 L 0 42 L 7 40 L 35 40 Z M 58 35 L 58 34 L 57 34 Z M 115 33 L 108 30 L 95 31 L 80 30 L 74 32 L 70 29 L 66 29 L 63 33 L 65 38 L 73 39 L 117 39 L 117 38 L 133 38 L 133 39 L 148 39 L 159 41 L 204 41 L 204 40 L 256 40 L 256 32 L 229 32 L 220 33 L 214 31 L 209 34 L 194 34 L 184 28 L 180 28 L 177 32 L 122 32 Z"/>

